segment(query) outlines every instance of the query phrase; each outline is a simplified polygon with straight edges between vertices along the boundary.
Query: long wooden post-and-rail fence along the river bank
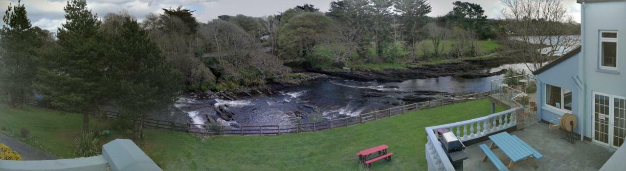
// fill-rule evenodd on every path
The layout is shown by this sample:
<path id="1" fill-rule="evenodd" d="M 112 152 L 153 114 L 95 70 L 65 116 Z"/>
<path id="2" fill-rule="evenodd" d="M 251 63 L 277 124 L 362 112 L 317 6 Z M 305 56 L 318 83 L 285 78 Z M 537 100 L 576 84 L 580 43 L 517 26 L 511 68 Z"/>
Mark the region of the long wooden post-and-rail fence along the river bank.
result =
<path id="1" fill-rule="evenodd" d="M 393 108 L 387 108 L 385 110 L 371 111 L 369 113 L 363 113 L 354 117 L 336 118 L 332 120 L 324 120 L 321 122 L 295 123 L 293 125 L 258 125 L 232 127 L 224 125 L 199 125 L 193 123 L 178 123 L 151 118 L 145 118 L 144 125 L 150 128 L 160 128 L 177 132 L 206 133 L 212 135 L 281 135 L 293 132 L 316 132 L 320 130 L 329 130 L 337 127 L 346 127 L 349 125 L 371 122 L 374 120 L 379 120 L 381 118 L 393 117 L 395 115 L 402 115 L 409 111 L 451 105 L 471 100 L 479 100 L 487 98 L 488 95 L 489 92 L 454 96 L 451 98 L 443 98 L 438 100 L 413 103 L 404 106 L 396 106 Z M 42 105 L 39 104 L 38 101 L 34 100 L 28 101 L 28 104 L 49 108 L 47 104 Z M 120 114 L 115 111 L 100 111 L 90 113 L 90 115 L 94 115 L 98 118 L 117 119 Z"/>

